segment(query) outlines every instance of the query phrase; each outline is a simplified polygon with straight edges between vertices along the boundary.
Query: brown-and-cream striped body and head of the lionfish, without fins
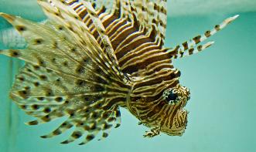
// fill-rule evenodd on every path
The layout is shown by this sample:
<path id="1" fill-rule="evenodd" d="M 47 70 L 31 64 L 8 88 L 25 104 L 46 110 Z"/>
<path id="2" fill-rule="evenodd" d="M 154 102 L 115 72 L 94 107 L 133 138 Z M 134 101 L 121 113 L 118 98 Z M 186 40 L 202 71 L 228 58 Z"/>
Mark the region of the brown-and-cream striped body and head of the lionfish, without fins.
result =
<path id="1" fill-rule="evenodd" d="M 90 31 L 101 43 L 97 30 L 94 26 L 90 26 L 92 21 L 84 5 L 79 2 L 70 2 L 69 5 L 87 23 Z M 162 97 L 164 90 L 179 84 L 180 72 L 172 66 L 172 53 L 162 48 L 162 40 L 155 39 L 157 32 L 155 29 L 147 35 L 146 29 L 139 28 L 139 21 L 120 19 L 118 10 L 108 14 L 104 12 L 104 8 L 101 8 L 97 15 L 111 40 L 119 66 L 122 72 L 127 74 L 128 84 L 131 86 L 126 101 L 119 106 L 127 108 L 146 126 L 162 127 L 162 129 L 166 127 L 168 128 L 166 132 L 169 133 L 174 116 L 185 106 L 182 102 L 169 105 Z M 186 96 L 189 96 L 189 93 L 186 93 Z M 183 122 L 179 123 L 180 126 L 181 123 Z M 181 135 L 181 133 L 170 134 Z"/>

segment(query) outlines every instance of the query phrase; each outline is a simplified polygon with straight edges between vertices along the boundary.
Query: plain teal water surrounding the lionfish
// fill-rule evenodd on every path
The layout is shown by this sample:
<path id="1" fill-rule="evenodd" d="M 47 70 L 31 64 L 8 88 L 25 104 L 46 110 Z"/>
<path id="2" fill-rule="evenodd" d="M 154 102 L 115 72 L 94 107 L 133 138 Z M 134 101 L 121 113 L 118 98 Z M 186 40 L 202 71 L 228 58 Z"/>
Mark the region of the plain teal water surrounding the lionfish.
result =
<path id="1" fill-rule="evenodd" d="M 255 6 L 256 7 L 256 6 Z M 42 15 L 23 15 L 22 8 L 0 6 L 0 12 L 21 15 L 38 21 Z M 38 12 L 39 7 L 31 10 Z M 146 127 L 126 110 L 121 110 L 122 123 L 111 131 L 106 140 L 93 140 L 85 146 L 79 142 L 59 144 L 71 133 L 44 140 L 61 120 L 29 127 L 33 120 L 9 100 L 8 90 L 21 62 L 0 56 L 0 151 L 3 152 L 254 152 L 256 151 L 256 12 L 239 13 L 239 19 L 210 38 L 215 41 L 209 49 L 194 56 L 174 61 L 181 70 L 180 82 L 189 87 L 191 99 L 186 105 L 189 123 L 183 137 L 166 134 L 145 139 Z M 173 47 L 218 24 L 234 14 L 179 16 L 168 18 L 166 47 Z M 0 20 L 1 30 L 9 24 Z M 0 46 L 1 49 L 4 46 Z"/>

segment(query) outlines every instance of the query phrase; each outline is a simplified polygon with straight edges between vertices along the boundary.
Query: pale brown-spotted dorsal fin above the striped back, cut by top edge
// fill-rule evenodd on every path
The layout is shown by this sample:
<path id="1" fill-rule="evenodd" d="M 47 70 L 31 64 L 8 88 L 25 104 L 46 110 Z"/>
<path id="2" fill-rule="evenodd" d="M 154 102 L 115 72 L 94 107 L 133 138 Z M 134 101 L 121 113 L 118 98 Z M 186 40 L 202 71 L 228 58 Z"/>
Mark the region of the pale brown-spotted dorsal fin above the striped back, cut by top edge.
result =
<path id="1" fill-rule="evenodd" d="M 140 28 L 146 28 L 148 33 L 155 30 L 156 39 L 162 42 L 166 37 L 167 10 L 166 1 L 161 0 L 124 0 L 121 1 L 130 19 L 138 19 Z M 135 16 L 134 16 L 135 15 Z"/>

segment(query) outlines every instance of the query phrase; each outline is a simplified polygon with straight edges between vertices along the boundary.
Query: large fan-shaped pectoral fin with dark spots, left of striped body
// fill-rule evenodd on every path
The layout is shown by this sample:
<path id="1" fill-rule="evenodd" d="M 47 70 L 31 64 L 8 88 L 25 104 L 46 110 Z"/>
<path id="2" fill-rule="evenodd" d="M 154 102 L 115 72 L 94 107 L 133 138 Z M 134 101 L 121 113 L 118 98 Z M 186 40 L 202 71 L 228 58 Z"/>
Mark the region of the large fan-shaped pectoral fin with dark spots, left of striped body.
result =
<path id="1" fill-rule="evenodd" d="M 75 130 L 63 144 L 83 135 L 80 144 L 86 144 L 100 132 L 101 138 L 108 137 L 111 127 L 120 126 L 118 105 L 125 102 L 128 93 L 119 67 L 72 10 L 60 10 L 52 1 L 39 4 L 49 17 L 44 24 L 0 14 L 28 43 L 26 49 L 0 51 L 26 62 L 12 86 L 12 100 L 36 117 L 29 125 L 67 117 L 44 138 L 71 127 Z"/>

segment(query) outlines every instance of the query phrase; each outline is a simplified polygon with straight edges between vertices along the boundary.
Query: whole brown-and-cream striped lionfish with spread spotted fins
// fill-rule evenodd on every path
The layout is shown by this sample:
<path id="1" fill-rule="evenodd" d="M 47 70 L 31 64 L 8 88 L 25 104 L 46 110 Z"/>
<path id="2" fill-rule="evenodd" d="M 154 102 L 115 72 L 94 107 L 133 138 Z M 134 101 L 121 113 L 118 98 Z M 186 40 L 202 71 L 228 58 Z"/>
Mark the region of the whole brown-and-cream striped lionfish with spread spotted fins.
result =
<path id="1" fill-rule="evenodd" d="M 189 89 L 179 84 L 172 59 L 211 46 L 203 42 L 238 17 L 181 45 L 164 47 L 166 0 L 38 0 L 48 17 L 37 23 L 1 13 L 27 42 L 26 49 L 0 53 L 25 61 L 9 96 L 36 120 L 29 125 L 66 117 L 43 138 L 73 133 L 62 144 L 80 137 L 87 144 L 121 124 L 120 107 L 150 130 L 181 136 L 188 112 Z"/>

